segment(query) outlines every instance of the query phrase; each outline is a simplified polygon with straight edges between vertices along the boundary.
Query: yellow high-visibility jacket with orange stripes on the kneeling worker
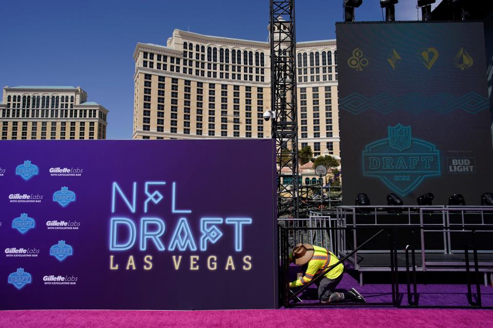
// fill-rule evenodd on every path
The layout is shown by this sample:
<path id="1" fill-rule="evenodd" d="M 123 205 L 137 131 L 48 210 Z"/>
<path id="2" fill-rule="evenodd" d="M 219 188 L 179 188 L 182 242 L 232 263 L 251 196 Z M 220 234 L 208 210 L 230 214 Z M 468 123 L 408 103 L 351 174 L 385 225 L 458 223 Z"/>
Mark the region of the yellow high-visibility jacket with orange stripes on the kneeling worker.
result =
<path id="1" fill-rule="evenodd" d="M 307 284 L 310 282 L 316 274 L 323 272 L 330 265 L 337 263 L 339 259 L 330 251 L 325 248 L 321 248 L 318 246 L 313 246 L 315 253 L 313 254 L 312 259 L 308 262 L 308 269 L 305 273 L 304 277 L 301 277 L 298 280 L 295 280 L 290 283 L 290 287 L 298 287 Z M 331 271 L 325 274 L 325 276 L 329 279 L 335 279 L 340 276 L 344 271 L 344 264 L 339 263 L 333 268 Z"/>

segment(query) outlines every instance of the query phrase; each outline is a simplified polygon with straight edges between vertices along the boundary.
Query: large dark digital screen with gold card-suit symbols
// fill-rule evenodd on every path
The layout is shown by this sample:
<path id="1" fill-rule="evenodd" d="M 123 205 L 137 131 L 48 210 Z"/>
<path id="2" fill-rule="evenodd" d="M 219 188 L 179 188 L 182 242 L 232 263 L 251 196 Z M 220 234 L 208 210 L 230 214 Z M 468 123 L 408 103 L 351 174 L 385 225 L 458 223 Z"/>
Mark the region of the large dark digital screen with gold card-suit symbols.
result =
<path id="1" fill-rule="evenodd" d="M 478 22 L 338 23 L 344 203 L 493 189 L 485 39 Z"/>

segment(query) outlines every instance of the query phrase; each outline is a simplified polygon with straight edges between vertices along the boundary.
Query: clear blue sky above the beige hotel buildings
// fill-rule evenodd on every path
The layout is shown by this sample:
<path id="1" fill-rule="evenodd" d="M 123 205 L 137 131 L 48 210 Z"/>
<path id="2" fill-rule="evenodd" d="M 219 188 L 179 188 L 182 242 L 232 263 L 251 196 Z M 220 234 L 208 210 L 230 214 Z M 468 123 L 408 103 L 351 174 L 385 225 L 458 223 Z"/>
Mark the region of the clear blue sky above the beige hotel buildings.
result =
<path id="1" fill-rule="evenodd" d="M 296 39 L 335 38 L 342 2 L 297 0 Z M 416 20 L 415 6 L 400 0 L 396 19 Z M 166 45 L 174 29 L 267 41 L 269 24 L 269 0 L 17 0 L 2 12 L 0 86 L 80 86 L 110 111 L 108 139 L 131 138 L 137 42 Z M 382 20 L 378 0 L 364 0 L 356 20 Z"/>

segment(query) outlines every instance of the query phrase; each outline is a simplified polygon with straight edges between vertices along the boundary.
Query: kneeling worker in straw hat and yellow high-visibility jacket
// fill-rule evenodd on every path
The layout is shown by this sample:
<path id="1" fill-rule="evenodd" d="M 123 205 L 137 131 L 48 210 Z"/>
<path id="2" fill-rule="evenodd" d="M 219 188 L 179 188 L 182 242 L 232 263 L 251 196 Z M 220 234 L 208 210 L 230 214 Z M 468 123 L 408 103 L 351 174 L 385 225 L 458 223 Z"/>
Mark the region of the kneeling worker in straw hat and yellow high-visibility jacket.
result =
<path id="1" fill-rule="evenodd" d="M 289 256 L 290 261 L 296 265 L 308 263 L 305 276 L 290 283 L 290 288 L 299 287 L 310 282 L 313 277 L 324 272 L 339 259 L 325 248 L 311 244 L 297 244 L 293 254 Z M 354 288 L 348 292 L 334 292 L 337 284 L 343 279 L 344 265 L 339 263 L 335 268 L 325 274 L 315 284 L 318 286 L 318 298 L 322 303 L 334 303 L 341 301 L 353 301 L 364 303 L 365 299 Z"/>

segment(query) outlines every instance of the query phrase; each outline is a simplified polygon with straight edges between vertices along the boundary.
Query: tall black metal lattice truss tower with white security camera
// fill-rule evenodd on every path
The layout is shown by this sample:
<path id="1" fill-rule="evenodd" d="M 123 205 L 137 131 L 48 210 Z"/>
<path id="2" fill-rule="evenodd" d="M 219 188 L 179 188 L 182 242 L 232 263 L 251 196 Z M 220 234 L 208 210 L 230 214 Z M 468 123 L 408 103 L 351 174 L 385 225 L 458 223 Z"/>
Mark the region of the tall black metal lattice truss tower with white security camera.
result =
<path id="1" fill-rule="evenodd" d="M 271 0 L 270 7 L 271 110 L 275 113 L 275 117 L 271 119 L 272 138 L 276 140 L 277 217 L 298 218 L 298 116 L 294 0 Z"/>

